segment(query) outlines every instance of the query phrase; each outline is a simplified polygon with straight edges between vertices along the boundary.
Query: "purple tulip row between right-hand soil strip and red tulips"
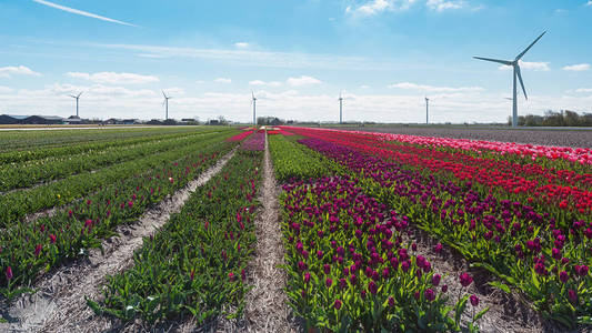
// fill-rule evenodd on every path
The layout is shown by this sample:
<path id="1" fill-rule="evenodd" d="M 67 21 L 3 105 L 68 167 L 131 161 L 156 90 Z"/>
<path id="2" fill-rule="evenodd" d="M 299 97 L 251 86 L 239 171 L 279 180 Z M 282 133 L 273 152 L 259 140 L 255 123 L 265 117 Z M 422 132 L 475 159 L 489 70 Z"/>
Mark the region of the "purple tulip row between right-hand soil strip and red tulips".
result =
<path id="1" fill-rule="evenodd" d="M 482 195 L 470 183 L 404 170 L 372 149 L 301 142 L 350 168 L 365 193 L 519 287 L 544 314 L 565 325 L 592 322 L 590 215 L 568 222 L 518 201 Z"/>

